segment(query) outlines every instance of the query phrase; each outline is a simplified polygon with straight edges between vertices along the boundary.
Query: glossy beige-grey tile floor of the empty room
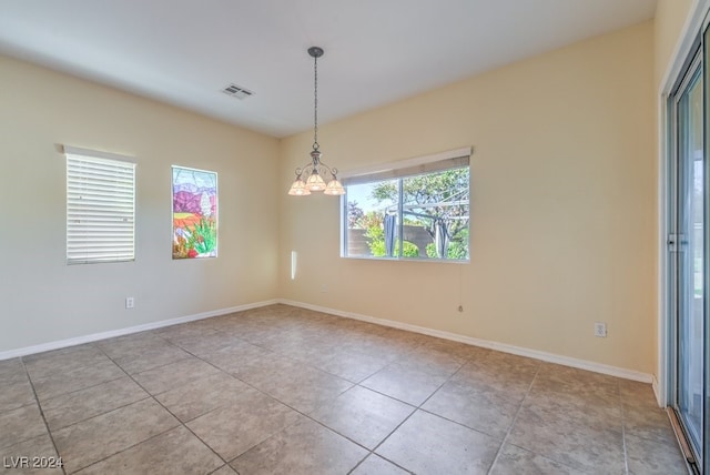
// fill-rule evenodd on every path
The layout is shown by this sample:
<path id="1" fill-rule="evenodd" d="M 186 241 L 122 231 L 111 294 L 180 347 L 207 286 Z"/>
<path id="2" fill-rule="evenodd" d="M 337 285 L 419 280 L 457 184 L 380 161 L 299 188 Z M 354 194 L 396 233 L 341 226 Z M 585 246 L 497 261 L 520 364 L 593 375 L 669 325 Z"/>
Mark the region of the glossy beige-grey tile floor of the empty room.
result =
<path id="1" fill-rule="evenodd" d="M 0 381 L 7 474 L 686 473 L 648 384 L 286 305 L 2 361 Z"/>

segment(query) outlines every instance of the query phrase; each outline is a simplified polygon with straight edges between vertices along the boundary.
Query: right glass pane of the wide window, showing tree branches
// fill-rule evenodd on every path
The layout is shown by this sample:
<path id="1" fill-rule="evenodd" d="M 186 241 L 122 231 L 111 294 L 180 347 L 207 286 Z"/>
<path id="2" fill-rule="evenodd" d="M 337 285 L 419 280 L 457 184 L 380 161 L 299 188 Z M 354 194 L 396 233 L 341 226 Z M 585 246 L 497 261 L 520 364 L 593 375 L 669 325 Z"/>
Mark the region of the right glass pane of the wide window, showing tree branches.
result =
<path id="1" fill-rule="evenodd" d="M 469 169 L 403 180 L 405 257 L 468 259 Z"/>

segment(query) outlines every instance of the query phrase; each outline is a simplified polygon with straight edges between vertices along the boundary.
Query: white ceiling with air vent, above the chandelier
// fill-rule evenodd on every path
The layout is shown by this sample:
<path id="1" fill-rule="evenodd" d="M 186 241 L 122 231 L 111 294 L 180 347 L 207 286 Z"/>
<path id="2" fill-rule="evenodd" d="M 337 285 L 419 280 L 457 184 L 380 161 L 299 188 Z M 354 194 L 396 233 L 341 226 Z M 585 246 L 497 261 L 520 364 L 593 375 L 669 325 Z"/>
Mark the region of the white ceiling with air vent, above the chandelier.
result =
<path id="1" fill-rule="evenodd" d="M 286 137 L 653 17 L 657 0 L 2 0 L 0 53 Z M 237 100 L 229 83 L 254 92 Z"/>

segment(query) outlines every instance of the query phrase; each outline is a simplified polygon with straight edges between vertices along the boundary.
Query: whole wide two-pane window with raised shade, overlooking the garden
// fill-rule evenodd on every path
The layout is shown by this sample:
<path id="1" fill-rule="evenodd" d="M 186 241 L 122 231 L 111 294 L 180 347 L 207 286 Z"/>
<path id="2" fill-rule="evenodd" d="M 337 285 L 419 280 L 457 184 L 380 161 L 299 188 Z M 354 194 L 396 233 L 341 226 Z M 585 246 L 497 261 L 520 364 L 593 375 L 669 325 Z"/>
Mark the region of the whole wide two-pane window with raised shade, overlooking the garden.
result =
<path id="1" fill-rule="evenodd" d="M 470 149 L 343 178 L 343 255 L 468 261 Z"/>

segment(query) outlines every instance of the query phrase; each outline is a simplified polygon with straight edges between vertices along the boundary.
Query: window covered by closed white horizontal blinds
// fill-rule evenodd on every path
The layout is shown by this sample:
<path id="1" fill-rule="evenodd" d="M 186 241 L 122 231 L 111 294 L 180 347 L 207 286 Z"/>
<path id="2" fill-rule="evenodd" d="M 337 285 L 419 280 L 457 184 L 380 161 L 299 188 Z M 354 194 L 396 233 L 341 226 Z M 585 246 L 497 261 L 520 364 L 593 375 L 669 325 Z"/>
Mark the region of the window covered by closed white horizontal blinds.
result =
<path id="1" fill-rule="evenodd" d="M 67 263 L 135 259 L 135 163 L 121 155 L 64 146 Z"/>

